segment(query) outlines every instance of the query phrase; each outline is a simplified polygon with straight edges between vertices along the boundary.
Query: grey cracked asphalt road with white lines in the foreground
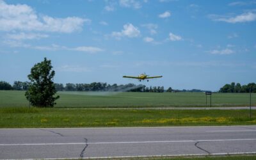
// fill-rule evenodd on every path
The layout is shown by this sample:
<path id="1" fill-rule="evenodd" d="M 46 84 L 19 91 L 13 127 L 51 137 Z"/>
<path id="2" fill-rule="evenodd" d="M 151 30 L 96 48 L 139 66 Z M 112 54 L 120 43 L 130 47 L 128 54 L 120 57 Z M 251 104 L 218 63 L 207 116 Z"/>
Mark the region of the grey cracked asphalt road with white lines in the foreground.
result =
<path id="1" fill-rule="evenodd" d="M 0 129 L 0 159 L 256 152 L 256 125 Z"/>

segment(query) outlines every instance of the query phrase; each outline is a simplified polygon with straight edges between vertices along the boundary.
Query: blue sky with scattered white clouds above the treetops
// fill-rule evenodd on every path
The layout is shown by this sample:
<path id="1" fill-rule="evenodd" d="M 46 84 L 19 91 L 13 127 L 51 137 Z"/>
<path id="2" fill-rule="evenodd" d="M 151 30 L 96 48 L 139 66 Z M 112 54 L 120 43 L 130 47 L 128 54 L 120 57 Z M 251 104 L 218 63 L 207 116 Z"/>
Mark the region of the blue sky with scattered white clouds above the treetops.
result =
<path id="1" fill-rule="evenodd" d="M 56 83 L 219 90 L 256 80 L 256 1 L 3 1 L 0 80 L 47 57 Z M 146 72 L 163 78 L 124 79 Z"/>

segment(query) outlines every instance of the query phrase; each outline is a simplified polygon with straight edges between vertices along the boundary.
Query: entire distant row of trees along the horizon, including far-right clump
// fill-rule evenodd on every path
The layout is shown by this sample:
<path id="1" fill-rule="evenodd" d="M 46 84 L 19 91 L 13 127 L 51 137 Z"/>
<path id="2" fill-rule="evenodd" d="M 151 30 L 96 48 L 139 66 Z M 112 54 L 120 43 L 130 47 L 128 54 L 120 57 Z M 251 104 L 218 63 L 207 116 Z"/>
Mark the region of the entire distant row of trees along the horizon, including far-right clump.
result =
<path id="1" fill-rule="evenodd" d="M 58 91 L 77 91 L 77 92 L 209 92 L 205 90 L 173 90 L 169 87 L 164 90 L 163 86 L 150 86 L 139 84 L 108 84 L 108 83 L 55 83 L 56 90 Z M 28 90 L 29 82 L 14 81 L 13 85 L 5 81 L 0 81 L 0 90 Z M 220 88 L 220 93 L 249 93 L 252 88 L 252 93 L 256 93 L 256 84 L 248 83 L 247 85 L 241 86 L 240 83 L 225 84 Z"/>

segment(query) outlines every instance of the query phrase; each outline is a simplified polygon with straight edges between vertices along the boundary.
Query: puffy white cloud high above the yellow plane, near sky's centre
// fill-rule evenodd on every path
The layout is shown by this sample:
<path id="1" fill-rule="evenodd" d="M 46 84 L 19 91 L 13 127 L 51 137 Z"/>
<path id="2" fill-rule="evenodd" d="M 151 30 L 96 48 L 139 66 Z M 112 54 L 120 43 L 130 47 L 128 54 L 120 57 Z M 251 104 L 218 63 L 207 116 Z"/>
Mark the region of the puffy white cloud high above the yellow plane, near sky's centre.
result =
<path id="1" fill-rule="evenodd" d="M 112 36 L 120 38 L 121 36 L 128 36 L 129 38 L 140 36 L 140 30 L 134 27 L 132 24 L 125 24 L 124 29 L 121 32 L 112 32 Z"/>

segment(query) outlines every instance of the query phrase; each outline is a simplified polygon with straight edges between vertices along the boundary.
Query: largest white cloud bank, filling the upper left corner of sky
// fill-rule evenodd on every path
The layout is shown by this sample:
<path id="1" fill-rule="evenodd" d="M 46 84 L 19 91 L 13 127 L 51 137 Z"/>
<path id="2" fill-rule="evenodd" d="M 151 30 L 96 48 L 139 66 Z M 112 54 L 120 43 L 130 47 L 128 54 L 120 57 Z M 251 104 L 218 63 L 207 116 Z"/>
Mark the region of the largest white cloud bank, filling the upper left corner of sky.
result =
<path id="1" fill-rule="evenodd" d="M 26 4 L 6 4 L 0 0 L 0 30 L 1 31 L 50 31 L 72 33 L 80 30 L 84 22 L 90 19 L 79 17 L 53 18 L 47 15 L 38 16 Z"/>

